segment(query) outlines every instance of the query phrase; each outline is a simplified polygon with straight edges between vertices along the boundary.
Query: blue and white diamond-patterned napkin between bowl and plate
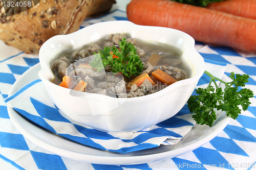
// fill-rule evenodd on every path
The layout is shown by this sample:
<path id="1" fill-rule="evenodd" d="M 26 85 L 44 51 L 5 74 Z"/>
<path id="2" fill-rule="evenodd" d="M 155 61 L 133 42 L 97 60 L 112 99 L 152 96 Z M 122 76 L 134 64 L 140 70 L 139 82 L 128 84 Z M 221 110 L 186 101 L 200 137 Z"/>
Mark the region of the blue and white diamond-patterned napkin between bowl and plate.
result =
<path id="1" fill-rule="evenodd" d="M 226 64 L 205 60 L 206 70 L 222 78 Z M 202 76 L 198 87 L 208 84 Z M 5 102 L 14 110 L 35 124 L 81 144 L 117 153 L 129 153 L 159 145 L 177 144 L 195 125 L 195 121 L 185 105 L 179 113 L 153 127 L 128 134 L 112 134 L 85 127 L 63 114 L 54 105 L 41 80 L 35 80 Z"/>

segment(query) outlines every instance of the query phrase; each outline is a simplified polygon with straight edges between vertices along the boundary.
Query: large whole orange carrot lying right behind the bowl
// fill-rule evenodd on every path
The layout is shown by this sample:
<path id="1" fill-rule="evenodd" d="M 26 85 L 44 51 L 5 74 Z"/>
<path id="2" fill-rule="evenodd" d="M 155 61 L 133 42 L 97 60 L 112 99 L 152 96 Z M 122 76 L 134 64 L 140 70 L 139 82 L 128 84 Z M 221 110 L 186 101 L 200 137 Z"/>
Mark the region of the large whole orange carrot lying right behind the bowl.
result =
<path id="1" fill-rule="evenodd" d="M 132 0 L 127 18 L 183 31 L 195 40 L 256 54 L 256 20 L 169 0 Z"/>

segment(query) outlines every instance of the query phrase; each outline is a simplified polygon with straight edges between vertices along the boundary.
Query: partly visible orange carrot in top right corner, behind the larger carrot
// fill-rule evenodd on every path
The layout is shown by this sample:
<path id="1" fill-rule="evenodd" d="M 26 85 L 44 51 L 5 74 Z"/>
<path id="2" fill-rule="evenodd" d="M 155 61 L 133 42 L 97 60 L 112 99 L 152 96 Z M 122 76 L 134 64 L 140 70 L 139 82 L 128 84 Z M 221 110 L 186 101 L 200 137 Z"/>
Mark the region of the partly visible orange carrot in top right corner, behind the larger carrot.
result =
<path id="1" fill-rule="evenodd" d="M 228 0 L 210 3 L 206 8 L 226 12 L 232 15 L 256 19 L 256 0 Z"/>

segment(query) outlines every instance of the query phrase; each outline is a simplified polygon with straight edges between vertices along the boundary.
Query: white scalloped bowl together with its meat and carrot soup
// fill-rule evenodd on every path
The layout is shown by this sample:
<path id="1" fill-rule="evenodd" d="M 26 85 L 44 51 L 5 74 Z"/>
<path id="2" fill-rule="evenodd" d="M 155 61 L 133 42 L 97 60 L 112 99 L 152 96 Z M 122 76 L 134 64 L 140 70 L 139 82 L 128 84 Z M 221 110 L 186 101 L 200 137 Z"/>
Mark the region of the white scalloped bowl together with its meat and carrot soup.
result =
<path id="1" fill-rule="evenodd" d="M 129 133 L 177 114 L 204 72 L 195 40 L 178 30 L 101 22 L 46 41 L 38 75 L 81 125 Z"/>

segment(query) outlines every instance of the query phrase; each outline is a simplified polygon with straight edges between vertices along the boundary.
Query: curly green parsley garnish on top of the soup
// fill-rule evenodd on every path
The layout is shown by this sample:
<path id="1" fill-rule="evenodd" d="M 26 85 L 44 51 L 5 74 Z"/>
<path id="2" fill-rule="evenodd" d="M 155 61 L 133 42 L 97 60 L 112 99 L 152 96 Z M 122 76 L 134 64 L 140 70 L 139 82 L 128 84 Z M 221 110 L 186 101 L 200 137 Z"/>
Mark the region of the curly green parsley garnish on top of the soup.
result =
<path id="1" fill-rule="evenodd" d="M 137 49 L 135 46 L 130 42 L 128 43 L 125 41 L 125 38 L 123 38 L 122 41 L 119 41 L 119 47 L 121 52 L 119 52 L 115 46 L 104 47 L 103 51 L 99 51 L 100 55 L 94 55 L 95 60 L 93 60 L 90 65 L 97 68 L 98 71 L 103 70 L 105 66 L 109 65 L 109 67 L 113 68 L 113 70 L 111 70 L 112 72 L 122 72 L 126 77 L 140 75 L 143 64 L 136 53 Z M 113 58 L 113 55 L 117 57 Z"/>

